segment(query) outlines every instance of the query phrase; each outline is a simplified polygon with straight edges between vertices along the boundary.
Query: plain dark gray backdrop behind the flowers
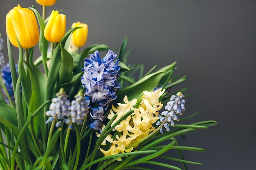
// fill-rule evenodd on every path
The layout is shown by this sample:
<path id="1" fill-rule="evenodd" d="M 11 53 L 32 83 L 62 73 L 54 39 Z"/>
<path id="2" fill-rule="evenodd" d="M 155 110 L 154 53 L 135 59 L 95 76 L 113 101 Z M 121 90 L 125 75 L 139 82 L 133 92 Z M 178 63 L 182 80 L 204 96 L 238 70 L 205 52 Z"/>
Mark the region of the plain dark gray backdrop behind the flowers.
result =
<path id="1" fill-rule="evenodd" d="M 0 0 L 4 39 L 5 15 L 18 3 L 35 4 L 41 13 L 34 0 Z M 53 9 L 63 9 L 67 29 L 76 21 L 88 24 L 86 46 L 118 48 L 127 36 L 128 50 L 135 51 L 130 63 L 143 62 L 148 71 L 177 61 L 176 74 L 189 75 L 179 85 L 191 94 L 184 114 L 200 111 L 191 122 L 218 121 L 186 135 L 186 141 L 179 139 L 207 150 L 184 152 L 185 159 L 204 163 L 188 165 L 189 170 L 256 169 L 255 0 L 58 0 L 47 7 L 47 15 Z M 7 57 L 7 48 L 3 53 Z"/>

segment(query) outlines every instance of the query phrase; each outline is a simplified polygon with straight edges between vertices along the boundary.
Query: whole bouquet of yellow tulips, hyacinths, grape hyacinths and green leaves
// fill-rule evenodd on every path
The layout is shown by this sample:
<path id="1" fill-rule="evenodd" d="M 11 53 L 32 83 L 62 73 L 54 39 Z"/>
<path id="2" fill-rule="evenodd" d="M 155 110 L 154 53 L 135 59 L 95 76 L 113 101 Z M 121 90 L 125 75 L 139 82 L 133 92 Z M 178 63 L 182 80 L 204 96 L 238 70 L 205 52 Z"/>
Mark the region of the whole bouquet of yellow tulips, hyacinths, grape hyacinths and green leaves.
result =
<path id="1" fill-rule="evenodd" d="M 127 64 L 127 38 L 117 54 L 105 44 L 80 51 L 87 24 L 76 22 L 65 32 L 65 15 L 52 11 L 45 18 L 45 7 L 56 0 L 36 2 L 43 15 L 18 5 L 6 16 L 9 63 L 3 66 L 0 53 L 0 169 L 150 170 L 143 168 L 146 163 L 181 170 L 156 157 L 179 161 L 184 170 L 186 163 L 200 164 L 185 160 L 181 151 L 204 149 L 179 146 L 175 137 L 216 122 L 180 123 L 195 114 L 179 121 L 186 88 L 171 88 L 186 76 L 172 77 L 176 62 L 143 74 L 142 64 Z M 18 64 L 11 44 L 19 48 Z M 0 50 L 2 45 L 0 39 Z M 164 156 L 170 149 L 180 157 Z"/>

